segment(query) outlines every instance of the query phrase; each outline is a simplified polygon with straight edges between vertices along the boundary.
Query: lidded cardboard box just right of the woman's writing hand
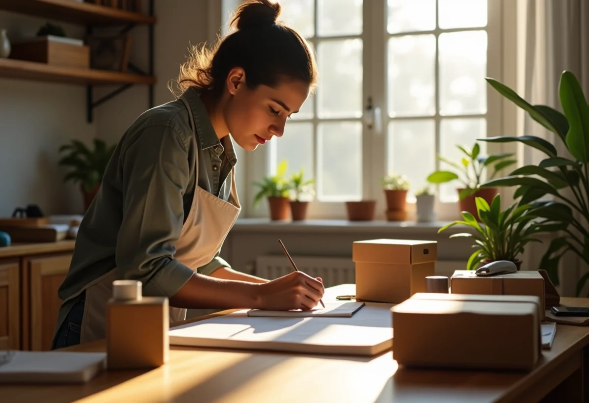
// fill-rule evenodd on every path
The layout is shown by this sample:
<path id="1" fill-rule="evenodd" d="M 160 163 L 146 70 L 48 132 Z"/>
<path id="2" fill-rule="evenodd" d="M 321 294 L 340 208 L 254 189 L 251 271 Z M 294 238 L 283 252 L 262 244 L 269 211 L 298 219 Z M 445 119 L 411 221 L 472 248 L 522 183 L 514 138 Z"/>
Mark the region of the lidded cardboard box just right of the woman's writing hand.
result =
<path id="1" fill-rule="evenodd" d="M 435 273 L 437 243 L 428 240 L 373 239 L 353 243 L 356 298 L 400 303 L 425 292 L 425 278 Z"/>

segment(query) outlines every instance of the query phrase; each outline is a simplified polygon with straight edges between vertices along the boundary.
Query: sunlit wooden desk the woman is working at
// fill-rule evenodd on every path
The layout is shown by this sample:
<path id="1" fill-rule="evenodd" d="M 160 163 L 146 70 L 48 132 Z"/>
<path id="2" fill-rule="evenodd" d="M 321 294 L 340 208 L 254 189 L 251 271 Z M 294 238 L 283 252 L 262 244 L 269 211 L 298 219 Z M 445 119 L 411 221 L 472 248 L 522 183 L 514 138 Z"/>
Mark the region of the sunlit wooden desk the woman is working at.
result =
<path id="1" fill-rule="evenodd" d="M 329 289 L 324 300 L 353 293 Z M 562 299 L 589 306 L 589 299 Z M 202 318 L 200 318 L 202 319 Z M 193 319 L 196 321 L 198 319 Z M 456 335 L 460 337 L 460 335 Z M 372 358 L 172 347 L 152 371 L 103 372 L 86 385 L 0 387 L 2 402 L 580 402 L 589 326 L 557 325 L 551 350 L 529 373 L 398 368 Z M 104 351 L 104 341 L 70 348 Z M 586 376 L 586 375 L 585 375 Z M 552 393 L 551 393 L 552 391 Z"/>

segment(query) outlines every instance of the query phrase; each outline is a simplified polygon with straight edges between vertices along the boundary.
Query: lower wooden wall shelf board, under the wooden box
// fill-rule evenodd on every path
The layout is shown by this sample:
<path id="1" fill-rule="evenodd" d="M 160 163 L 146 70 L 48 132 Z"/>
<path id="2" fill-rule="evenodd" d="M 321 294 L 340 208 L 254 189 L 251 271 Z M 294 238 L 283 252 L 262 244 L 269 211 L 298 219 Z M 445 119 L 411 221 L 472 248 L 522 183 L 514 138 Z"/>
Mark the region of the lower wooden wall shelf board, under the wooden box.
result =
<path id="1" fill-rule="evenodd" d="M 90 70 L 14 59 L 0 59 L 0 78 L 64 82 L 67 84 L 155 84 L 155 77 Z"/>

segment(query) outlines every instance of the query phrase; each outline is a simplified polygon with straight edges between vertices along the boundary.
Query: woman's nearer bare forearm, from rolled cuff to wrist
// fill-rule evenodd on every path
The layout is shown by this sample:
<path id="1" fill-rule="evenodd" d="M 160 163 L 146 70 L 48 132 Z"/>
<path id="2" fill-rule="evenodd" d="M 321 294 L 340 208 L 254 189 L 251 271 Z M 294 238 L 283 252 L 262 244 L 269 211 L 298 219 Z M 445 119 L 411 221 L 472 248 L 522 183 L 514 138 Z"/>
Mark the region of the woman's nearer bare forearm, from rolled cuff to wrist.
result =
<path id="1" fill-rule="evenodd" d="M 218 271 L 218 270 L 216 270 Z M 170 298 L 177 308 L 258 308 L 259 284 L 240 280 L 194 275 Z"/>

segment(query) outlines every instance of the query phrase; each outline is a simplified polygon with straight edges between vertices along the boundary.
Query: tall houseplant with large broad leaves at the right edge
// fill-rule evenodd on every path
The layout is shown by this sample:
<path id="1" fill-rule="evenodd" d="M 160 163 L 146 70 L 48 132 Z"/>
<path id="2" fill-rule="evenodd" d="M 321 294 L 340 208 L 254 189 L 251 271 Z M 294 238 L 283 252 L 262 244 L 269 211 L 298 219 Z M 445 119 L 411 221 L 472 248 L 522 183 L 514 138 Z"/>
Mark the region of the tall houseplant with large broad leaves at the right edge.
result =
<path id="1" fill-rule="evenodd" d="M 568 155 L 558 155 L 557 148 L 543 138 L 535 136 L 489 137 L 482 141 L 506 143 L 519 141 L 546 154 L 538 165 L 516 169 L 508 177 L 487 181 L 482 187 L 517 186 L 515 198 L 519 204 L 542 206 L 540 217 L 558 222 L 563 234 L 552 240 L 542 257 L 540 268 L 547 270 L 550 279 L 558 285 L 558 262 L 571 250 L 589 265 L 589 105 L 577 78 L 570 71 L 561 75 L 558 96 L 564 114 L 546 105 L 531 105 L 515 91 L 492 78 L 491 87 L 505 98 L 525 110 L 530 117 L 555 133 L 557 141 L 567 148 Z M 572 197 L 562 190 L 570 189 Z M 538 201 L 550 195 L 557 201 Z M 573 212 L 576 217 L 573 215 Z M 577 283 L 577 295 L 589 279 L 585 274 Z"/>

